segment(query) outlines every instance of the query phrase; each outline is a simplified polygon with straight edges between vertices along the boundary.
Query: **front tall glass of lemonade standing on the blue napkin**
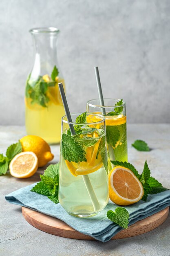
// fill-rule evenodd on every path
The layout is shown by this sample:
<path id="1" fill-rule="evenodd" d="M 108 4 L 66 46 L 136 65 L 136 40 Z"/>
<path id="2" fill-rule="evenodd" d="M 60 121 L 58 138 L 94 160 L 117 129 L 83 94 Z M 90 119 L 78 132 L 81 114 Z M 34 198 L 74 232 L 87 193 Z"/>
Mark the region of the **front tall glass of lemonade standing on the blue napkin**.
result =
<path id="1" fill-rule="evenodd" d="M 86 112 L 71 118 L 62 118 L 59 202 L 69 214 L 88 217 L 102 211 L 109 199 L 105 118 Z"/>

